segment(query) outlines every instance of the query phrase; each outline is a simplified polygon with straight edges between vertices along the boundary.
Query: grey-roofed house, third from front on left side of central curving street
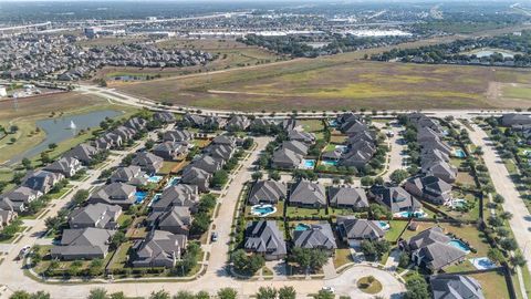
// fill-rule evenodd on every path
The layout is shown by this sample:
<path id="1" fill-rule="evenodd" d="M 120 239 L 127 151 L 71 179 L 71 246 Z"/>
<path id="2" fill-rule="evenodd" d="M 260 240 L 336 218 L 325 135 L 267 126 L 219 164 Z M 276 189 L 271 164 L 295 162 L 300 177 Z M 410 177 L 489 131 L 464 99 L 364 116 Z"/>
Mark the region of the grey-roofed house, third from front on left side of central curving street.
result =
<path id="1" fill-rule="evenodd" d="M 199 204 L 198 186 L 177 184 L 164 189 L 160 198 L 152 204 L 153 212 L 165 212 L 171 207 L 188 207 L 192 212 Z"/>

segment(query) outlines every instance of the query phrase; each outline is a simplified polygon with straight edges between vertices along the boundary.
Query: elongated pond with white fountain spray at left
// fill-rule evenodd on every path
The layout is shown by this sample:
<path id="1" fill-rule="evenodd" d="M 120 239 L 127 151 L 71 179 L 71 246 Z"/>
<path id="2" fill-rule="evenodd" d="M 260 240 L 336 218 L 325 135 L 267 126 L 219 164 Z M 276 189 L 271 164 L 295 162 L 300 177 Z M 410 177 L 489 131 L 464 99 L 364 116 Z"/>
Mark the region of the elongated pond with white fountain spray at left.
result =
<path id="1" fill-rule="evenodd" d="M 121 114 L 122 112 L 115 110 L 102 110 L 85 114 L 37 121 L 37 126 L 46 133 L 46 137 L 40 144 L 13 157 L 10 161 L 10 164 L 18 163 L 24 157 L 37 156 L 48 150 L 49 144 L 58 144 L 65 140 L 72 138 L 81 130 L 100 126 L 100 123 L 105 120 L 105 117 L 115 117 Z"/>

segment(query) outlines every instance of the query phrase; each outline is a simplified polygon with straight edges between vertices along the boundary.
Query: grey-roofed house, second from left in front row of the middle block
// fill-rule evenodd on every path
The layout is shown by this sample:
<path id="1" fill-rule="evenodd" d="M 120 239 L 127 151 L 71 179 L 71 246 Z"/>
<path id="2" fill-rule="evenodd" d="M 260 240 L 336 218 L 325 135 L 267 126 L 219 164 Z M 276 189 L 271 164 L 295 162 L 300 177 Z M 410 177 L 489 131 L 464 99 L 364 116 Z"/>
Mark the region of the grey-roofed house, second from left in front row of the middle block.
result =
<path id="1" fill-rule="evenodd" d="M 310 228 L 293 231 L 293 245 L 301 248 L 323 249 L 334 252 L 337 248 L 329 223 L 312 224 Z"/>

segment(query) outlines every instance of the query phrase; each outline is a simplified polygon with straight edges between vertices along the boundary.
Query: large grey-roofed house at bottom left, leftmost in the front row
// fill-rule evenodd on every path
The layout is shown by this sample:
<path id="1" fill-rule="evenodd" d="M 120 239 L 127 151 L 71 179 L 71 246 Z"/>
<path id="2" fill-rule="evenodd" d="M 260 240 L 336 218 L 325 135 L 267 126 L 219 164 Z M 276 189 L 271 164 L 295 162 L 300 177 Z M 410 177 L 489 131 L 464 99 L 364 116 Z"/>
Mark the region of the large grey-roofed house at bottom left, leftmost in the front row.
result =
<path id="1" fill-rule="evenodd" d="M 86 227 L 64 229 L 60 245 L 52 247 L 53 259 L 103 259 L 108 252 L 108 244 L 115 230 Z"/>

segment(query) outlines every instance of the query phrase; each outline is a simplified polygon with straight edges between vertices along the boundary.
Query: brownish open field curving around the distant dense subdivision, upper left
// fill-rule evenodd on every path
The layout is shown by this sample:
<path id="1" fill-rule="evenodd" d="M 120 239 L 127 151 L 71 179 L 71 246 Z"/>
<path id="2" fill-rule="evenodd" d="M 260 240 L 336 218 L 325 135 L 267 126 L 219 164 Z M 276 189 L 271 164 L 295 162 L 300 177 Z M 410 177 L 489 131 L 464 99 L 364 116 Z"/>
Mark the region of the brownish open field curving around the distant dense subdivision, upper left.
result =
<path id="1" fill-rule="evenodd" d="M 100 40 L 96 40 L 100 41 Z M 114 44 L 121 43 L 117 39 L 114 39 Z M 101 41 L 104 45 L 113 44 L 112 39 Z M 211 72 L 216 70 L 226 70 L 230 68 L 241 68 L 257 64 L 264 64 L 275 62 L 278 60 L 283 60 L 281 55 L 260 49 L 258 47 L 246 45 L 243 43 L 233 41 L 233 40 L 181 40 L 181 39 L 170 39 L 157 43 L 157 47 L 163 49 L 179 49 L 179 50 L 202 50 L 209 52 L 219 58 L 207 65 L 199 66 L 185 66 L 185 68 L 165 68 L 165 69 L 153 69 L 153 68 L 115 68 L 106 66 L 103 70 L 98 71 L 97 78 L 105 78 L 108 80 L 111 85 L 123 85 L 129 84 L 129 82 L 113 81 L 112 79 L 119 75 L 137 75 L 137 76 L 147 76 L 147 75 L 160 75 L 163 78 L 175 76 L 175 75 L 185 75 L 197 72 Z"/>

